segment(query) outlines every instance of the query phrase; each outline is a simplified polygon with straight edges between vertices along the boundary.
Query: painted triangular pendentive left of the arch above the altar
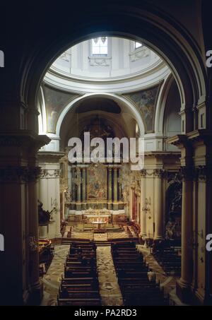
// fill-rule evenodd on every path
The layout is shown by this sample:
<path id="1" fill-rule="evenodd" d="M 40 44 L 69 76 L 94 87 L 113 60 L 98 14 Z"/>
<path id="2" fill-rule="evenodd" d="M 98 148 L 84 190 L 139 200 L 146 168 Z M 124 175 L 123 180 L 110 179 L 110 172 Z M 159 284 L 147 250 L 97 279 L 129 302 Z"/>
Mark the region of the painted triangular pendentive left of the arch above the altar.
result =
<path id="1" fill-rule="evenodd" d="M 63 111 L 64 107 L 71 102 L 71 100 L 78 97 L 75 93 L 65 93 L 56 89 L 52 89 L 44 85 L 45 105 L 47 111 L 47 131 L 49 133 L 56 133 L 57 120 Z"/>

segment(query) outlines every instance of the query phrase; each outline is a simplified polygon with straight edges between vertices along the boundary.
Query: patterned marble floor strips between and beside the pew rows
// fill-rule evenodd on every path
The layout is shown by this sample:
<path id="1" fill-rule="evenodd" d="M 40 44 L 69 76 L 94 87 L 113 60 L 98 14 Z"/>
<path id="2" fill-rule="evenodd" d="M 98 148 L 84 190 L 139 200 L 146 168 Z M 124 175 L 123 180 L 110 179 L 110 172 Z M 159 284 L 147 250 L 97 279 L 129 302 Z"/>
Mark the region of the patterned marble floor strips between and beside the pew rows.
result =
<path id="1" fill-rule="evenodd" d="M 167 276 L 163 268 L 155 261 L 149 249 L 139 246 L 146 262 L 156 273 L 157 281 L 163 288 L 165 295 L 170 295 L 170 304 L 185 305 L 177 298 L 175 285 L 177 277 Z M 44 286 L 44 297 L 42 306 L 55 306 L 57 303 L 57 294 L 61 281 L 61 274 L 64 273 L 64 262 L 68 254 L 69 245 L 56 245 L 54 249 L 54 258 L 47 273 L 42 278 Z M 122 294 L 119 289 L 117 277 L 114 270 L 110 246 L 97 248 L 97 267 L 100 283 L 100 297 L 104 306 L 122 306 Z"/>

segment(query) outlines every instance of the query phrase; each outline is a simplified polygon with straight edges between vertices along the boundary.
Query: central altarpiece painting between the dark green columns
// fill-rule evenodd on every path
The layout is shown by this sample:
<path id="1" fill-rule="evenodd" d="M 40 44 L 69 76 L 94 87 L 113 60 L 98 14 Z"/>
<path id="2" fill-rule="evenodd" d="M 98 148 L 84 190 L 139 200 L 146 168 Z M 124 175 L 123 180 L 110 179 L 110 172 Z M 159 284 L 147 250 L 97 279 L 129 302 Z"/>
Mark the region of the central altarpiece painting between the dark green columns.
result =
<path id="1" fill-rule="evenodd" d="M 107 200 L 107 168 L 94 165 L 88 168 L 88 200 Z"/>

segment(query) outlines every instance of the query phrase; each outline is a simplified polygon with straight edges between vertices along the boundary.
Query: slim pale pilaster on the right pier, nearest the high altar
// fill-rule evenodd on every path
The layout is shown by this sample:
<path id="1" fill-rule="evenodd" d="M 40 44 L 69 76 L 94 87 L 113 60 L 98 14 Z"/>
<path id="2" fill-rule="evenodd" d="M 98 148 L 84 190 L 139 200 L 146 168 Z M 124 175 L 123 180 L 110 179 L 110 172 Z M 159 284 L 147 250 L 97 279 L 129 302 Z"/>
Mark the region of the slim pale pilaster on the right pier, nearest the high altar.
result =
<path id="1" fill-rule="evenodd" d="M 146 237 L 146 170 L 141 171 L 141 237 Z"/>

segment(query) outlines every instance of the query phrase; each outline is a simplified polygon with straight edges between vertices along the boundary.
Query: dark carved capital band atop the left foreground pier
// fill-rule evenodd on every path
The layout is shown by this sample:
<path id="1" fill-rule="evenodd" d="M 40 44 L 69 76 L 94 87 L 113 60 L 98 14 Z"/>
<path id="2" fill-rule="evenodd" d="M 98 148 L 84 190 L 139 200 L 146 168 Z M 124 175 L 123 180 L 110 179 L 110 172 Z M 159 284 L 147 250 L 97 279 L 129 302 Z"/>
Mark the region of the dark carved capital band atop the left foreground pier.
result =
<path id="1" fill-rule="evenodd" d="M 4 167 L 0 168 L 0 181 L 33 182 L 40 177 L 40 167 Z"/>

